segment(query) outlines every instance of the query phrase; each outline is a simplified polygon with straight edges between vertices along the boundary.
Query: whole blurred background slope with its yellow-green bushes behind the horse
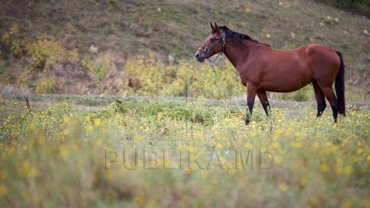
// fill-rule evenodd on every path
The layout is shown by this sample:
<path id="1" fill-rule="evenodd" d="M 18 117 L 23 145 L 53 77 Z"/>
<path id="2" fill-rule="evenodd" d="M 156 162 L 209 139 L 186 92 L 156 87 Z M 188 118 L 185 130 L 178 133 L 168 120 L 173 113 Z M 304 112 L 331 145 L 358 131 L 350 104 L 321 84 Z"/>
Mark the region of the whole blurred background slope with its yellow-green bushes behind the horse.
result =
<path id="1" fill-rule="evenodd" d="M 183 82 L 191 80 L 200 90 L 193 96 L 222 97 L 209 66 L 193 59 L 210 32 L 209 22 L 216 22 L 275 49 L 318 43 L 341 51 L 349 96 L 368 101 L 369 18 L 366 0 L 4 1 L 2 94 L 22 88 L 36 94 L 147 96 L 160 83 L 163 95 L 184 96 Z M 218 66 L 228 93 L 243 96 L 225 57 Z M 311 88 L 269 96 L 305 101 Z"/>

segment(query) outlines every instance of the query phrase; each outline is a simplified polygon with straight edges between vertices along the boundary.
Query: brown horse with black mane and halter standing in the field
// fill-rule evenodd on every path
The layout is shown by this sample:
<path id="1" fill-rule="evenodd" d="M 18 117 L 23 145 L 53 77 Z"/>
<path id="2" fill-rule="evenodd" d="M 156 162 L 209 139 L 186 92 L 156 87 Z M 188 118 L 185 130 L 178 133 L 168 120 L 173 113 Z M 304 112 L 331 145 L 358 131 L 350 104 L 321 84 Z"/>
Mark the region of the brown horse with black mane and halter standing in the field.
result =
<path id="1" fill-rule="evenodd" d="M 310 44 L 292 50 L 275 50 L 252 39 L 246 34 L 218 27 L 211 23 L 211 34 L 195 58 L 204 62 L 206 58 L 225 53 L 235 67 L 244 86 L 247 87 L 246 125 L 250 121 L 255 96 L 260 99 L 268 115 L 269 102 L 266 91 L 292 92 L 312 83 L 317 101 L 317 116 L 329 101 L 332 115 L 337 122 L 338 112 L 345 116 L 344 62 L 342 54 L 328 46 Z M 336 98 L 332 90 L 335 81 Z"/>

